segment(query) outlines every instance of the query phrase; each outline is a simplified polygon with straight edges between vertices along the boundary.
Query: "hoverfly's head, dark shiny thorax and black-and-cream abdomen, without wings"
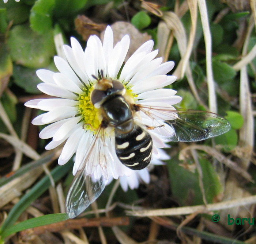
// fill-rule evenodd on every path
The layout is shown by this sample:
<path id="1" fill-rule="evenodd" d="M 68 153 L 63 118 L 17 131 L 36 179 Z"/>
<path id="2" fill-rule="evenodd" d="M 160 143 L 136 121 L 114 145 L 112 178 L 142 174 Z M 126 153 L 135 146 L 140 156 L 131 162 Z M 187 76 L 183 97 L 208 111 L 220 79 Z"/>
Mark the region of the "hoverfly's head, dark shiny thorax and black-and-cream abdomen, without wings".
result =
<path id="1" fill-rule="evenodd" d="M 125 93 L 120 81 L 102 79 L 94 86 L 91 102 L 101 110 L 102 124 L 114 128 L 118 159 L 130 169 L 140 170 L 151 161 L 153 143 L 150 134 L 134 122 L 134 106 Z"/>

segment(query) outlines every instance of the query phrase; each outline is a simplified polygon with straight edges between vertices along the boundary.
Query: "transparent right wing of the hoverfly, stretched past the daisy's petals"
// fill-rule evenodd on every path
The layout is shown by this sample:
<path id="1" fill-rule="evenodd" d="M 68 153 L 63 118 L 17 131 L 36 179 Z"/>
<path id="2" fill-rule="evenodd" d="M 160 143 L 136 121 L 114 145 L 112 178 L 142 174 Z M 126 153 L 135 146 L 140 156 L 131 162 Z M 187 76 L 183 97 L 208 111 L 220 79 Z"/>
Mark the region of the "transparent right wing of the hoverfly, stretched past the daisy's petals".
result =
<path id="1" fill-rule="evenodd" d="M 160 104 L 160 103 L 158 103 Z M 226 133 L 229 122 L 215 113 L 173 106 L 136 105 L 148 129 L 173 142 L 197 142 Z M 148 124 L 147 124 L 148 123 Z"/>

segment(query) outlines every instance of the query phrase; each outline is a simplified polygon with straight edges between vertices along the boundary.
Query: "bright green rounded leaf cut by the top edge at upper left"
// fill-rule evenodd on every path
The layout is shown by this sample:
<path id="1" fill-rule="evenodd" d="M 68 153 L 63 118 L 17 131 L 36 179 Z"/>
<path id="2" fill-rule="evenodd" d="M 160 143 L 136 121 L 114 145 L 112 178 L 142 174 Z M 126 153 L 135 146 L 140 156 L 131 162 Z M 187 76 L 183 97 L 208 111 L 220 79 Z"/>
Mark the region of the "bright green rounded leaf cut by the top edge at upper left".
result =
<path id="1" fill-rule="evenodd" d="M 33 31 L 44 34 L 52 28 L 52 12 L 55 0 L 38 0 L 30 13 L 30 24 Z"/>

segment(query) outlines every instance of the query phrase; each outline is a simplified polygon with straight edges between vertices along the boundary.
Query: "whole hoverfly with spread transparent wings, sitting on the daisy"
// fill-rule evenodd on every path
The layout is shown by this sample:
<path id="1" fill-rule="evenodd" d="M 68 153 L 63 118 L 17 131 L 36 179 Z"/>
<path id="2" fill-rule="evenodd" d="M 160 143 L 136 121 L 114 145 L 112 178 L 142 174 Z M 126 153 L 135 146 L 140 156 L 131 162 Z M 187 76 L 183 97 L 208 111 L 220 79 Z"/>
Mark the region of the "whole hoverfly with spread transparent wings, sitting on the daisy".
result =
<path id="1" fill-rule="evenodd" d="M 106 165 L 108 160 L 112 160 L 103 133 L 106 128 L 114 129 L 116 155 L 121 163 L 132 170 L 144 169 L 151 161 L 153 140 L 150 130 L 157 130 L 169 141 L 196 142 L 221 135 L 230 129 L 228 121 L 215 113 L 176 110 L 170 105 L 166 107 L 166 104 L 159 106 L 160 103 L 158 106 L 135 104 L 126 96 L 126 89 L 120 81 L 108 78 L 97 80 L 91 102 L 100 109 L 102 122 L 83 159 L 83 166 L 68 191 L 66 212 L 70 218 L 82 213 L 99 197 L 107 184 L 104 175 L 97 180 L 91 179 L 85 170 L 89 161 L 96 159 L 99 164 Z M 144 116 L 148 124 L 137 123 L 137 113 Z M 94 146 L 100 147 L 100 155 L 93 155 Z"/>

